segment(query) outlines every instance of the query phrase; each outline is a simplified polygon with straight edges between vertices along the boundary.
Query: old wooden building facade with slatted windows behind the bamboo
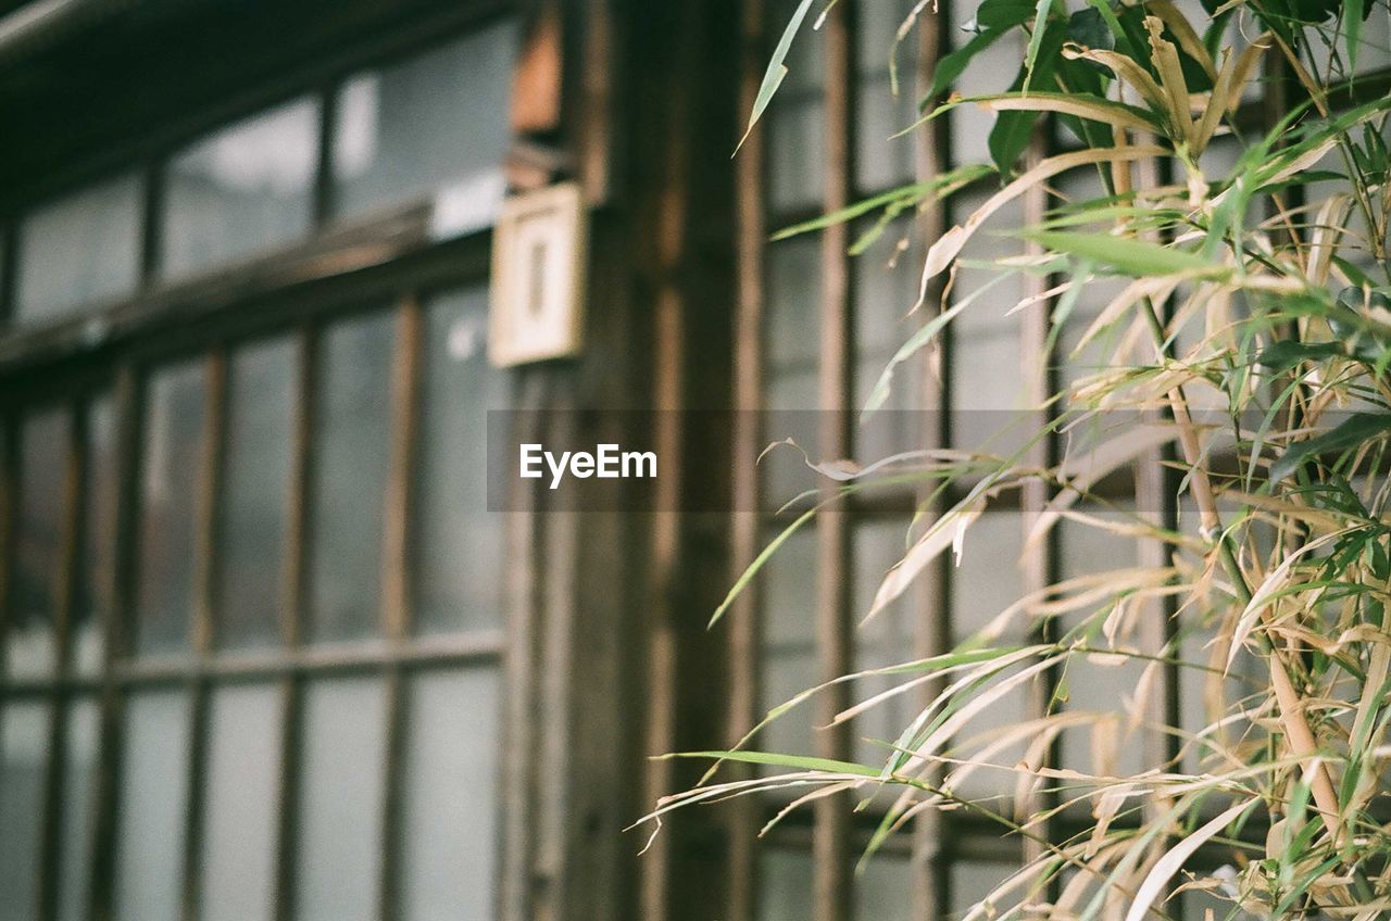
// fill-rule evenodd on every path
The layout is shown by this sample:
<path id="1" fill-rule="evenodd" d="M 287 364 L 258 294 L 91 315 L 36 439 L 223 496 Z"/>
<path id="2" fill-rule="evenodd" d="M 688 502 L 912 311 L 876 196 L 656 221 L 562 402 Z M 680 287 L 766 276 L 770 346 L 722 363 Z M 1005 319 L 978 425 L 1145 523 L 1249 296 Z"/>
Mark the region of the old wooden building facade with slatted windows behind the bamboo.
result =
<path id="1" fill-rule="evenodd" d="M 989 160 L 985 115 L 889 141 L 917 111 L 890 54 L 921 85 L 951 13 L 892 51 L 914 4 L 842 1 L 730 160 L 794 6 L 0 4 L 0 920 L 896 921 L 949 917 L 1018 861 L 947 814 L 857 876 L 876 810 L 835 800 L 761 838 L 783 801 L 677 815 L 643 854 L 647 831 L 625 832 L 700 776 L 650 755 L 727 744 L 822 678 L 944 650 L 1025 590 L 1125 562 L 1067 529 L 1025 554 L 1046 498 L 1025 495 L 857 630 L 911 516 L 858 502 L 707 630 L 797 488 L 796 465 L 755 463 L 782 433 L 591 410 L 818 410 L 821 456 L 872 455 L 1070 373 L 1046 299 L 1004 316 L 1021 289 L 899 388 L 897 409 L 931 410 L 899 416 L 912 430 L 853 424 L 919 321 L 914 255 L 988 192 L 864 256 L 855 224 L 768 238 Z M 1002 42 L 963 79 L 1004 89 L 1021 54 Z M 492 225 L 509 189 L 558 181 L 587 207 L 584 348 L 492 367 Z M 573 410 L 519 415 L 536 438 L 650 438 L 676 459 L 659 508 L 734 511 L 554 512 L 540 484 L 488 511 L 499 409 Z M 1107 488 L 1174 518 L 1161 476 Z M 1178 719 L 1198 691 L 1164 680 Z M 903 712 L 812 732 L 868 690 L 762 746 L 892 737 Z"/>

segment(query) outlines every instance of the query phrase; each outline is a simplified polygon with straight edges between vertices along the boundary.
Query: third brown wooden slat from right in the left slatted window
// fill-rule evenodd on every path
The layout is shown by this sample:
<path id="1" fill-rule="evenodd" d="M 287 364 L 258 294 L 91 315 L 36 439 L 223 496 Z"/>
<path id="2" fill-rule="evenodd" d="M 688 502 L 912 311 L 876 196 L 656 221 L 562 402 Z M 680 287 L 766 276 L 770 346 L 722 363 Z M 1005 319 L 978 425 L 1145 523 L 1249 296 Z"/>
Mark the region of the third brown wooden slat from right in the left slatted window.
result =
<path id="1" fill-rule="evenodd" d="M 203 831 L 207 810 L 209 711 L 211 689 L 207 666 L 216 632 L 217 531 L 223 483 L 223 451 L 227 437 L 227 352 L 214 349 L 204 360 L 206 409 L 198 479 L 198 506 L 193 531 L 193 657 L 196 666 L 188 680 L 189 758 L 188 792 L 184 806 L 184 921 L 198 921 L 202 911 Z"/>

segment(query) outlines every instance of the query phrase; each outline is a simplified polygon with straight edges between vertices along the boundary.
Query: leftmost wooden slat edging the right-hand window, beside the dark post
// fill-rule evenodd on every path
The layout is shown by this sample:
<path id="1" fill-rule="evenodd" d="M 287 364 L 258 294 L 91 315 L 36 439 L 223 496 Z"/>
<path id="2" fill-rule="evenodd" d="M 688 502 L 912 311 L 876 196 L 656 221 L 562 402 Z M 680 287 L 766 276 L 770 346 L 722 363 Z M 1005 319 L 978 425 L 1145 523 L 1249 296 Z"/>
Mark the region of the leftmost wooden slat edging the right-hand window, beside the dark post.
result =
<path id="1" fill-rule="evenodd" d="M 743 4 L 739 111 L 753 111 L 765 67 L 764 0 Z M 754 131 L 734 159 L 736 285 L 732 573 L 737 579 L 758 555 L 762 512 L 759 470 L 764 406 L 764 134 Z M 762 608 L 758 586 L 734 601 L 729 630 L 729 725 L 737 742 L 758 719 Z M 747 765 L 732 779 L 753 776 Z M 754 921 L 758 911 L 758 800 L 739 797 L 729 808 L 729 921 Z"/>

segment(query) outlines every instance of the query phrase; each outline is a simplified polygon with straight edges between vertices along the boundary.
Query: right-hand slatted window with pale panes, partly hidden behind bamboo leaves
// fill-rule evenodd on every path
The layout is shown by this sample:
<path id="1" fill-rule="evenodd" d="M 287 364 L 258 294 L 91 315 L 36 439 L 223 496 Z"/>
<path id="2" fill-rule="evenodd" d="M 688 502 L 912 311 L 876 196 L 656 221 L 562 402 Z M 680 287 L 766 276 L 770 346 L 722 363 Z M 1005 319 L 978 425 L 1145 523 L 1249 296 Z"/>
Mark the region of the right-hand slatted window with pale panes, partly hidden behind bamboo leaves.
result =
<path id="1" fill-rule="evenodd" d="M 776 38 L 791 6 L 768 7 L 765 26 Z M 931 129 L 890 139 L 917 118 L 917 31 L 896 51 L 901 86 L 897 100 L 890 92 L 887 64 L 894 32 L 911 7 L 908 1 L 858 4 L 854 14 L 833 8 L 821 32 L 804 32 L 794 43 L 785 86 L 762 128 L 765 163 L 746 166 L 740 178 L 741 193 L 761 198 L 759 221 L 766 231 L 911 182 L 918 170 L 933 166 L 944 170 L 943 153 L 950 166 L 989 161 L 989 115 L 971 107 L 950 113 L 949 128 L 933 128 L 946 131 L 942 141 L 949 143 L 939 145 L 928 134 Z M 1021 54 L 1022 49 L 1000 42 L 976 58 L 963 83 L 982 92 L 1006 89 Z M 757 85 L 758 77 L 761 72 L 746 79 Z M 828 150 L 836 153 L 828 154 Z M 949 227 L 989 193 L 986 188 L 967 188 L 942 210 L 929 214 L 929 220 L 947 220 L 950 214 L 951 220 L 943 225 Z M 1022 225 L 1027 223 L 1024 209 L 1038 205 L 1017 206 L 1014 213 L 995 220 L 997 225 Z M 754 250 L 747 249 L 753 246 L 748 242 L 740 253 L 759 270 L 759 323 L 765 339 L 753 363 L 736 367 L 740 378 L 736 392 L 748 392 L 750 383 L 757 381 L 761 383 L 762 406 L 803 410 L 773 412 L 771 429 L 758 435 L 757 444 L 746 447 L 744 456 L 757 456 L 771 441 L 793 434 L 812 455 L 872 460 L 906 448 L 942 444 L 942 440 L 960 447 L 981 445 L 1021 415 L 1025 423 L 1036 422 L 1028 417 L 1025 408 L 1036 405 L 1036 388 L 1049 384 L 1056 373 L 1042 358 L 1047 328 L 1040 319 L 1046 312 L 1010 314 L 1027 294 L 1024 282 L 1010 281 L 999 285 L 993 296 L 972 303 L 949 327 L 942 352 L 931 358 L 935 365 L 929 366 L 929 355 L 924 352 L 897 369 L 883 409 L 871 424 L 854 423 L 881 373 L 915 324 L 924 321 L 922 314 L 936 310 L 935 298 L 940 294 L 932 294 L 924 310 L 910 316 L 918 299 L 922 255 L 922 234 L 908 224 L 911 216 L 883 228 L 862 255 L 847 255 L 874 227 L 874 218 L 869 216 L 865 223 L 829 227 L 787 241 L 759 242 Z M 766 234 L 751 234 L 746 239 L 761 238 Z M 906 249 L 900 241 L 908 241 Z M 986 234 L 978 235 L 971 246 L 967 257 L 986 259 L 1018 252 L 1020 243 Z M 979 289 L 985 280 L 983 273 L 963 269 L 953 299 Z M 753 275 L 747 284 L 754 284 Z M 1100 287 L 1089 291 L 1085 303 L 1077 307 L 1078 316 L 1095 314 L 1106 296 Z M 1091 306 L 1097 298 L 1100 303 Z M 741 541 L 736 533 L 736 547 L 758 552 L 790 523 L 789 516 L 779 518 L 775 509 L 812 488 L 814 479 L 801 458 L 787 454 L 793 456 L 779 460 L 775 451 L 757 469 L 753 465 L 736 467 L 736 477 L 757 479 L 764 509 L 762 515 L 736 523 L 736 529 L 754 534 Z M 847 499 L 837 511 L 818 516 L 812 527 L 793 536 L 769 561 L 759 577 L 757 600 L 747 601 L 746 608 L 751 609 L 744 611 L 758 615 L 757 627 L 743 629 L 757 629 L 755 648 L 761 650 L 761 657 L 736 664 L 736 705 L 747 707 L 750 723 L 835 675 L 946 651 L 985 627 L 1027 590 L 1039 586 L 1060 559 L 1089 559 L 1097 568 L 1127 562 L 1116 558 L 1116 541 L 1093 540 L 1081 545 L 1082 537 L 1074 533 L 1025 552 L 1024 536 L 1032 520 L 1032 506 L 1027 502 L 1024 506 L 999 505 L 967 533 L 958 566 L 943 561 L 922 573 L 918 584 L 893 605 L 860 625 L 883 575 L 903 555 L 911 509 L 918 501 L 921 497 L 903 490 Z M 750 561 L 747 556 L 736 565 Z M 1008 636 L 1025 640 L 1027 627 L 1013 625 Z M 1135 675 L 1106 675 L 1104 679 L 1106 683 L 1097 680 L 1096 693 L 1075 696 L 1072 705 L 1106 712 L 1114 707 L 1118 682 L 1134 684 Z M 773 722 L 755 747 L 829 758 L 882 760 L 887 746 L 917 712 L 917 698 L 892 698 L 858 715 L 849 732 L 818 732 L 814 726 L 826 726 L 835 714 L 867 700 L 885 684 L 882 679 L 867 679 L 854 687 L 839 684 L 822 691 L 819 703 L 812 698 Z M 748 689 L 758 689 L 757 697 Z M 963 751 L 990 744 L 992 729 L 1027 719 L 1039 712 L 1046 700 L 1045 687 L 1021 687 L 975 721 L 967 733 L 970 737 L 957 744 Z M 1063 758 L 1082 767 L 1091 755 L 1088 743 L 1085 730 L 1066 739 Z M 1013 750 L 1022 754 L 1022 743 Z M 1132 751 L 1139 757 L 1136 748 Z M 997 757 L 1008 761 L 1010 754 Z M 953 787 L 976 797 L 1002 797 L 1002 808 L 1013 808 L 1013 775 L 968 768 L 944 768 L 943 774 Z M 753 810 L 748 821 L 772 818 L 791 796 L 768 794 L 762 811 Z M 840 806 L 849 821 L 835 818 L 830 806 L 818 803 L 817 808 L 783 818 L 747 849 L 737 846 L 740 839 L 736 838 L 730 860 L 757 861 L 759 867 L 754 902 L 761 918 L 810 915 L 818 907 L 818 893 L 826 892 L 844 897 L 844 903 L 833 908 L 833 917 L 844 921 L 944 917 L 974 904 L 1017 868 L 1022 857 L 1018 840 L 1002 842 L 989 831 L 982 833 L 968 814 L 957 811 L 932 817 L 932 824 L 918 832 L 896 838 L 871 860 L 867 875 L 855 878 L 851 870 L 879 825 L 887 797 L 875 797 L 853 814 L 851 803 Z M 757 825 L 744 840 L 753 842 L 755 829 Z M 819 840 L 815 850 L 811 847 L 814 838 Z M 826 846 L 828 840 L 833 843 Z M 936 854 L 929 879 L 914 879 L 911 870 L 910 853 L 921 846 Z M 736 872 L 734 878 L 748 879 L 750 875 Z M 894 915 L 894 911 L 901 914 Z"/>

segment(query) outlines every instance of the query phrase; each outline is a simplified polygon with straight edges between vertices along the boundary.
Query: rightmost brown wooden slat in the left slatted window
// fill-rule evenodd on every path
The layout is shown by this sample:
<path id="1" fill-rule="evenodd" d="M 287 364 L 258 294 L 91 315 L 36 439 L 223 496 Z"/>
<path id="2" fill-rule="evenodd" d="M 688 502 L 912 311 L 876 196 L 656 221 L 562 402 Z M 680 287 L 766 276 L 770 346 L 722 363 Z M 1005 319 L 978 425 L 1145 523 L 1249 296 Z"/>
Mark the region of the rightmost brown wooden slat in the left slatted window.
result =
<path id="1" fill-rule="evenodd" d="M 381 630 L 387 643 L 396 646 L 410 634 L 410 483 L 416 463 L 420 399 L 420 302 L 406 298 L 396 313 L 396 353 L 391 380 L 391 469 L 387 479 L 385 534 L 383 536 L 383 609 Z M 381 797 L 381 879 L 378 917 L 396 917 L 401 883 L 401 808 L 402 762 L 409 696 L 399 664 L 392 662 L 384 676 L 387 693 L 387 764 L 385 793 Z"/>

